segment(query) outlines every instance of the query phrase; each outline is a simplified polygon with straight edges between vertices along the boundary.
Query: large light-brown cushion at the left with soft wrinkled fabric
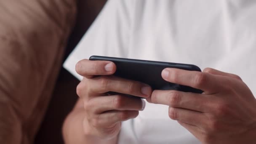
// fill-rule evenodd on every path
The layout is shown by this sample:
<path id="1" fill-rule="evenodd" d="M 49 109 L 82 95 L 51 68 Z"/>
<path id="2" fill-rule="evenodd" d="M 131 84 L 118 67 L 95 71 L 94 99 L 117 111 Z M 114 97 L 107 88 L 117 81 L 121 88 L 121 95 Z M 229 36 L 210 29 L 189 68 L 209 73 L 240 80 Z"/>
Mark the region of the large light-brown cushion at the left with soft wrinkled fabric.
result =
<path id="1" fill-rule="evenodd" d="M 33 143 L 75 12 L 76 0 L 0 0 L 0 144 Z"/>

